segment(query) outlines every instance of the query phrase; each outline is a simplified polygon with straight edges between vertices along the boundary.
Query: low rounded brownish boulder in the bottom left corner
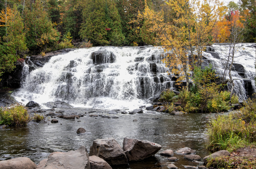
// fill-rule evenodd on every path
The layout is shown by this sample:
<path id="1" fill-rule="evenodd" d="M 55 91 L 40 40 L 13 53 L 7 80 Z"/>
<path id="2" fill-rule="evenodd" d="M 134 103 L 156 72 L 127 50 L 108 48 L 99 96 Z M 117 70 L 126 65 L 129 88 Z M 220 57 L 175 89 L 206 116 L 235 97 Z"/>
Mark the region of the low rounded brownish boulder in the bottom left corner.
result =
<path id="1" fill-rule="evenodd" d="M 0 169 L 36 169 L 36 164 L 27 157 L 0 161 Z"/>

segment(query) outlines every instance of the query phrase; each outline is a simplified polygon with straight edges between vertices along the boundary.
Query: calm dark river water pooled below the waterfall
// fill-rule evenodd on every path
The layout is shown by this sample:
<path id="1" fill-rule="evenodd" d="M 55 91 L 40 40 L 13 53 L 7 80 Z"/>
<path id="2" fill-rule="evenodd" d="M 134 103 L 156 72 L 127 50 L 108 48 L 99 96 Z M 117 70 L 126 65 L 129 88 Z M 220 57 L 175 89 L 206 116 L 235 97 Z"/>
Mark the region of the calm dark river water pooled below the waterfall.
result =
<path id="1" fill-rule="evenodd" d="M 76 111 L 82 111 L 77 109 Z M 122 146 L 123 138 L 145 139 L 162 145 L 162 149 L 154 157 L 144 161 L 130 163 L 129 166 L 116 168 L 167 168 L 168 157 L 159 153 L 166 149 L 178 150 L 190 147 L 201 158 L 209 154 L 204 149 L 207 117 L 212 114 L 169 115 L 166 113 L 117 115 L 118 119 L 89 117 L 75 120 L 59 119 L 58 123 L 34 123 L 26 127 L 0 130 L 0 160 L 14 157 L 28 157 L 36 164 L 54 151 L 76 150 L 84 145 L 88 151 L 93 140 L 113 137 Z M 159 118 L 153 120 L 152 118 Z M 50 118 L 51 119 L 51 118 Z M 133 122 L 133 119 L 138 121 Z M 77 122 L 80 120 L 81 122 Z M 62 124 L 62 125 L 61 125 Z M 86 129 L 85 134 L 77 134 L 79 127 Z M 174 154 L 179 160 L 174 164 L 200 166 L 185 160 L 182 155 Z"/>

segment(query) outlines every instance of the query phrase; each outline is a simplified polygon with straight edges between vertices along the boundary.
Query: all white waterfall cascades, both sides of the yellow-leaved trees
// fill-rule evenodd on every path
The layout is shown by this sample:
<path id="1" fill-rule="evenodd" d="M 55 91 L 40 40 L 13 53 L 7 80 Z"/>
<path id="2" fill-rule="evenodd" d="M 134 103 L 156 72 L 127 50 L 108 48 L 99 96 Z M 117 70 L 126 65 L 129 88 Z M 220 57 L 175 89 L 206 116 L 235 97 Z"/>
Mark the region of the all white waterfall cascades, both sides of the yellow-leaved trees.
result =
<path id="1" fill-rule="evenodd" d="M 247 47 L 249 45 L 238 44 L 235 63 L 243 65 L 244 76 L 254 84 L 255 48 Z M 203 52 L 203 55 L 221 72 L 225 64 L 226 48 L 223 45 L 214 45 L 214 48 L 220 58 L 209 52 Z M 213 52 L 214 49 L 209 48 L 208 51 Z M 172 75 L 168 75 L 169 69 L 162 63 L 164 57 L 164 50 L 160 47 L 77 49 L 51 57 L 43 67 L 35 67 L 30 73 L 28 65 L 25 65 L 22 87 L 13 96 L 24 104 L 30 100 L 41 105 L 63 100 L 74 106 L 138 108 L 148 104 L 146 99 L 154 96 L 158 90 L 173 88 Z M 237 71 L 232 71 L 232 76 L 240 79 L 235 81 L 234 92 L 240 100 L 244 100 L 245 78 Z"/>

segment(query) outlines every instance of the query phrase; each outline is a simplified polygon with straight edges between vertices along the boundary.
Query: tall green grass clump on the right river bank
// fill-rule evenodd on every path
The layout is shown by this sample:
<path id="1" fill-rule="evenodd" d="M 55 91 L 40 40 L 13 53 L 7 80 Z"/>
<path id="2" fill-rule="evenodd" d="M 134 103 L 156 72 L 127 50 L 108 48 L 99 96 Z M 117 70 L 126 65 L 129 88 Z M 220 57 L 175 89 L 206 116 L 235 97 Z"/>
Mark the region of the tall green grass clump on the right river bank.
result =
<path id="1" fill-rule="evenodd" d="M 218 115 L 207 126 L 206 148 L 211 151 L 233 151 L 256 141 L 256 102 L 248 99 L 240 111 Z"/>

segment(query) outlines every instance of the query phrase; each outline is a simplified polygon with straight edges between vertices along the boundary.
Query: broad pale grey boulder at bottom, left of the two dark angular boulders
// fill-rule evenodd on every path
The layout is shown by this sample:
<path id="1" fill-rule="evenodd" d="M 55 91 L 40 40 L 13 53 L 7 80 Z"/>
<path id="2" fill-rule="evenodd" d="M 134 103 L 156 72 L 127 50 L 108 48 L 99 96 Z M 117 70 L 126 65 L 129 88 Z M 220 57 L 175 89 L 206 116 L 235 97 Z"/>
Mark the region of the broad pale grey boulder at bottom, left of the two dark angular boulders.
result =
<path id="1" fill-rule="evenodd" d="M 40 164 L 40 165 L 39 165 Z M 73 151 L 54 152 L 48 156 L 48 159 L 42 160 L 38 164 L 38 169 L 66 169 L 66 168 L 83 168 L 90 169 L 90 161 L 87 150 L 84 146 Z M 45 165 L 44 165 L 45 164 Z"/>

